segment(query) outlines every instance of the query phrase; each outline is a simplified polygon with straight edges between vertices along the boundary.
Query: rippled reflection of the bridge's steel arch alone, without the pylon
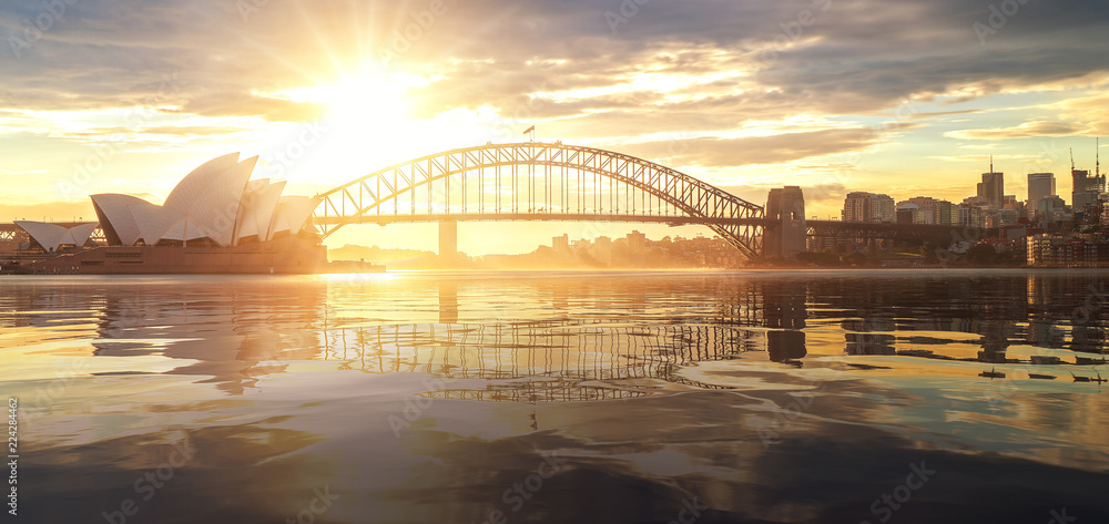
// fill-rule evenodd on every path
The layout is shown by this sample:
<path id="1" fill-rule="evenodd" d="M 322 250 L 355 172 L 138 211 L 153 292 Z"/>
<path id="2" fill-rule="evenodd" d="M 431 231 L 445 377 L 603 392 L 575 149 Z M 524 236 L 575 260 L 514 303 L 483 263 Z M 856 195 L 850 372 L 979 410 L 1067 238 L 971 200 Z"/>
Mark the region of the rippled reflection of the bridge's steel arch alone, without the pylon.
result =
<path id="1" fill-rule="evenodd" d="M 718 389 L 674 373 L 675 366 L 759 351 L 761 335 L 737 326 L 561 320 L 376 326 L 325 332 L 325 343 L 348 369 L 487 382 L 441 397 L 564 401 L 651 394 L 662 388 L 659 381 Z"/>

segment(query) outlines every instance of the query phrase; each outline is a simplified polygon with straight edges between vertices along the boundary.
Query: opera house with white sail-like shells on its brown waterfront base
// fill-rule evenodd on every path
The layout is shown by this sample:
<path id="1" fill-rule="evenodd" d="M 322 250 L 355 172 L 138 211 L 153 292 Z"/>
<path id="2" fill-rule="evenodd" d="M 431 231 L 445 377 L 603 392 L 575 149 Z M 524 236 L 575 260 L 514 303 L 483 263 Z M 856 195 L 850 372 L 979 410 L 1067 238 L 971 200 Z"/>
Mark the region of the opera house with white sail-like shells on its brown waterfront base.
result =
<path id="1" fill-rule="evenodd" d="M 309 223 L 319 198 L 283 196 L 284 182 L 252 181 L 257 157 L 238 153 L 193 169 L 162 205 L 130 195 L 93 195 L 95 223 L 65 227 L 17 222 L 19 273 L 315 273 L 326 250 Z"/>

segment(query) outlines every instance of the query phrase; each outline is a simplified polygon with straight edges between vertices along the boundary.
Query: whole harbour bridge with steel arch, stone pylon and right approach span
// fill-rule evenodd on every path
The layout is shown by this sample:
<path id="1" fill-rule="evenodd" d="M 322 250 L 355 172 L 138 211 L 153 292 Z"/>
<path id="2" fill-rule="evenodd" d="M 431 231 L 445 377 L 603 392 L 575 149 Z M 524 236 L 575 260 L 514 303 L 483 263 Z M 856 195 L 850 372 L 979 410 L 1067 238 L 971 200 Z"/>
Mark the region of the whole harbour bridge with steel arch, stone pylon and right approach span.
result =
<path id="1" fill-rule="evenodd" d="M 794 256 L 806 250 L 808 237 L 849 250 L 853 240 L 949 243 L 959 236 L 950 225 L 811 220 L 797 186 L 771 189 L 759 205 L 654 162 L 560 142 L 445 151 L 317 196 L 313 224 L 325 238 L 350 224 L 437 222 L 440 246 L 450 253 L 464 220 L 702 225 L 749 258 Z M 103 232 L 92 238 L 103 242 Z M 26 242 L 14 224 L 0 224 L 0 251 Z"/>

